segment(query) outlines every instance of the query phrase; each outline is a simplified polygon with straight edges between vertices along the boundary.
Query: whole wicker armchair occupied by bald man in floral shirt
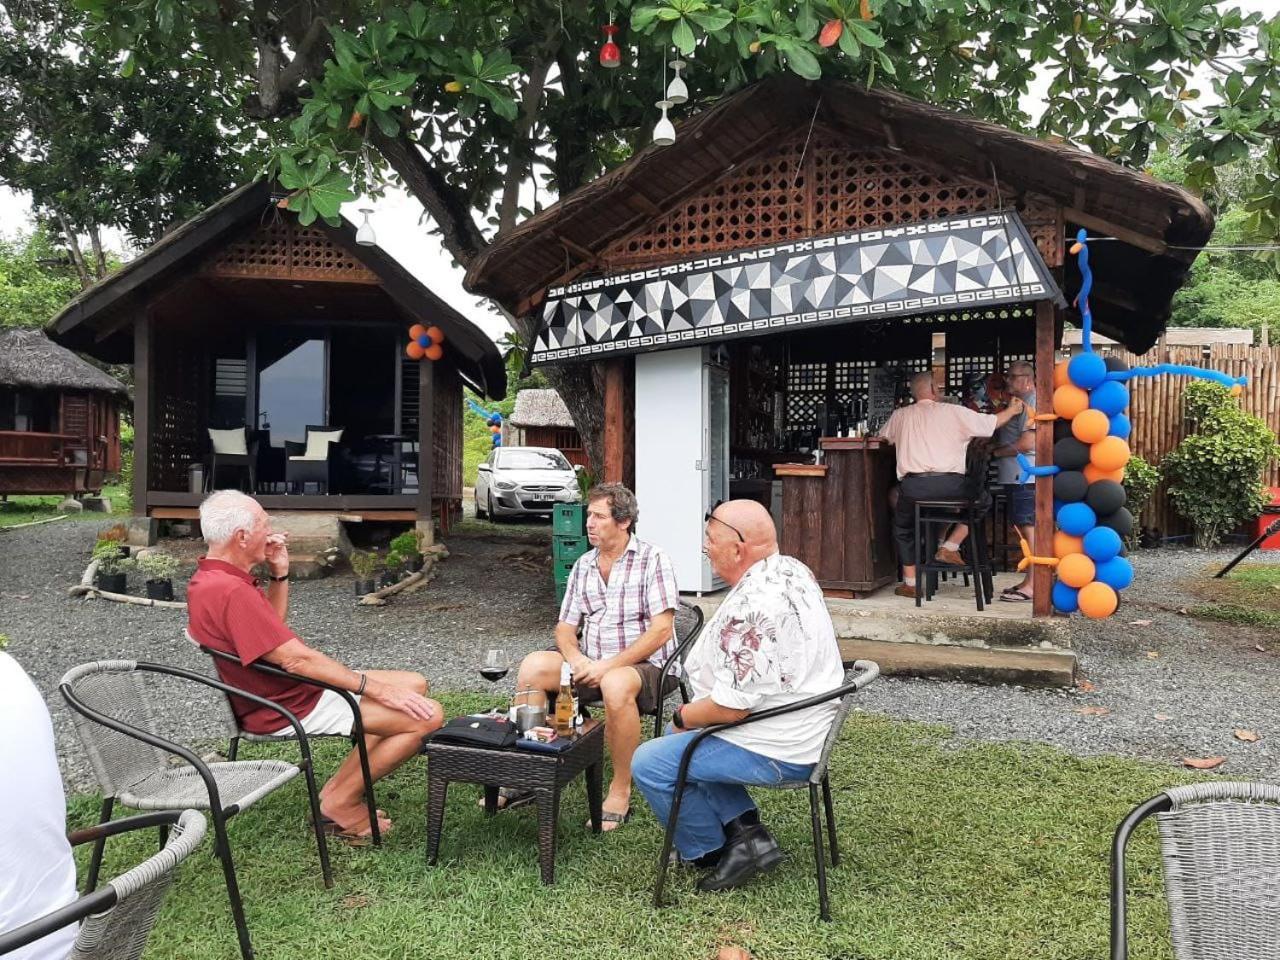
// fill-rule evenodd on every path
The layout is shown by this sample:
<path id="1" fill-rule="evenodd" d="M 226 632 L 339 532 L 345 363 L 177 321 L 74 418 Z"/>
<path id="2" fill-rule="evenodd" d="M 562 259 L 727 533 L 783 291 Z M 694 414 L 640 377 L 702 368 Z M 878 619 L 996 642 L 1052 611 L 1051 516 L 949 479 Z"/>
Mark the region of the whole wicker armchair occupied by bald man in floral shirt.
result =
<path id="1" fill-rule="evenodd" d="M 772 786 L 760 786 L 762 790 L 804 790 L 808 787 L 809 817 L 813 823 L 813 854 L 818 868 L 818 914 L 824 920 L 831 919 L 831 905 L 827 897 L 827 856 L 822 842 L 822 815 L 818 813 L 818 788 L 822 788 L 822 803 L 827 812 L 827 833 L 831 842 L 831 865 L 837 867 L 840 864 L 840 847 L 836 842 L 836 808 L 831 800 L 831 780 L 828 777 L 827 768 L 831 763 L 831 751 L 835 749 L 836 741 L 840 739 L 840 731 L 845 726 L 845 718 L 849 716 L 849 710 L 854 705 L 854 695 L 878 676 L 879 664 L 873 663 L 872 660 L 855 660 L 852 668 L 845 673 L 844 686 L 838 686 L 826 694 L 818 694 L 817 696 L 809 696 L 804 700 L 796 700 L 786 707 L 773 707 L 768 710 L 760 710 L 759 713 L 753 713 L 749 717 L 733 721 L 732 723 L 717 723 L 710 727 L 703 727 L 698 731 L 698 735 L 689 741 L 689 746 L 685 748 L 685 753 L 680 758 L 680 771 L 676 774 L 676 795 L 671 804 L 671 815 L 667 818 L 667 833 L 662 841 L 662 856 L 658 858 L 658 877 L 653 884 L 654 906 L 662 906 L 662 888 L 667 879 L 667 868 L 671 864 L 671 850 L 676 836 L 676 824 L 680 822 L 680 804 L 685 795 L 685 781 L 689 777 L 689 762 L 692 759 L 694 750 L 698 749 L 699 744 L 722 730 L 741 727 L 748 723 L 754 723 L 755 721 L 765 719 L 767 717 L 781 717 L 786 713 L 805 710 L 820 703 L 838 699 L 840 708 L 836 710 L 836 716 L 831 721 L 831 731 L 827 733 L 827 740 L 822 745 L 822 755 L 813 765 L 813 772 L 809 774 L 809 780 L 786 781 Z"/>

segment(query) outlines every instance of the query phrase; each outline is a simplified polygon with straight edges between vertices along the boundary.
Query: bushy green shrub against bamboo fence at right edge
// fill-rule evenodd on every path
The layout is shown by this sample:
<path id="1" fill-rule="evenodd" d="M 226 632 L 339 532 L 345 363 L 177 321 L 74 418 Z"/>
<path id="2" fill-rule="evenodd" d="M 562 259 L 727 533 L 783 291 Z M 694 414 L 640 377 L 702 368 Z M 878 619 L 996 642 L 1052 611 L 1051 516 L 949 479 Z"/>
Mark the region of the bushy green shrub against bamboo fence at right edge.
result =
<path id="1" fill-rule="evenodd" d="M 1185 411 L 1194 433 L 1161 470 L 1174 509 L 1192 524 L 1196 545 L 1213 547 L 1222 534 L 1262 512 L 1267 503 L 1262 474 L 1280 456 L 1280 443 L 1220 384 L 1188 384 Z"/>

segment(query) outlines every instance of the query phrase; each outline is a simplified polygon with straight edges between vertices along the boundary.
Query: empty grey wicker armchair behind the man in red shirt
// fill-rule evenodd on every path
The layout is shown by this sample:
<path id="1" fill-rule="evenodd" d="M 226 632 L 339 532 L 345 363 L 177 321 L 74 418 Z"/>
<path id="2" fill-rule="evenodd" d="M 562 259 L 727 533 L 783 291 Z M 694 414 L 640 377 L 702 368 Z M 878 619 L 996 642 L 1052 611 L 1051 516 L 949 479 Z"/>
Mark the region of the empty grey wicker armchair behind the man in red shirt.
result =
<path id="1" fill-rule="evenodd" d="M 205 763 L 189 748 L 160 736 L 143 675 L 201 684 L 224 695 L 236 694 L 279 713 L 293 727 L 301 760 L 298 764 L 284 760 Z M 325 886 L 333 886 L 311 748 L 302 724 L 292 713 L 270 700 L 200 673 L 136 660 L 99 660 L 73 667 L 58 689 L 74 712 L 76 732 L 84 746 L 84 753 L 88 754 L 93 776 L 102 788 L 102 823 L 111 818 L 116 800 L 136 810 L 187 808 L 209 810 L 214 820 L 215 852 L 223 863 L 227 896 L 230 900 L 232 918 L 236 922 L 236 933 L 244 960 L 252 960 L 253 947 L 244 922 L 244 904 L 236 882 L 230 842 L 227 838 L 227 820 L 230 817 L 279 790 L 302 772 L 306 777 L 311 823 L 320 852 L 320 869 Z M 170 756 L 184 760 L 186 765 L 170 764 Z M 97 886 L 102 847 L 101 840 L 93 846 L 86 892 L 92 892 Z"/>

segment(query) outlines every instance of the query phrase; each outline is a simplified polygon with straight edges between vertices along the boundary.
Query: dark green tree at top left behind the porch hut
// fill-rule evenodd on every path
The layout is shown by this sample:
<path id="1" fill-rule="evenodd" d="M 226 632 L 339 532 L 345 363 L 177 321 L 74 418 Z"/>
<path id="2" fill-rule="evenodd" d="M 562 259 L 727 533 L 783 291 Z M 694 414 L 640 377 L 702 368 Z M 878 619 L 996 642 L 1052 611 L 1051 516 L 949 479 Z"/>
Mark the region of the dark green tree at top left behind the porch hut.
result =
<path id="1" fill-rule="evenodd" d="M 247 160 L 241 95 L 209 76 L 131 69 L 82 45 L 68 0 L 0 3 L 0 183 L 26 191 L 82 285 L 104 276 L 104 228 L 140 243 L 227 192 Z"/>

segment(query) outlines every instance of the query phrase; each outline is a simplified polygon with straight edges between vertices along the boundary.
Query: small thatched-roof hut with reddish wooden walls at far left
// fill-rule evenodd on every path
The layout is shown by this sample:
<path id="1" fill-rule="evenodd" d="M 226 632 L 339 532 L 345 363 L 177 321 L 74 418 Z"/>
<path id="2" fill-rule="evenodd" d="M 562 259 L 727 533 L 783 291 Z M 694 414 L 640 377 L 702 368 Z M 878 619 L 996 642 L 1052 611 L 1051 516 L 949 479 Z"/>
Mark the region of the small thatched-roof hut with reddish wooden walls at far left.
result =
<path id="1" fill-rule="evenodd" d="M 0 495 L 100 492 L 120 470 L 125 398 L 40 330 L 0 330 Z"/>

